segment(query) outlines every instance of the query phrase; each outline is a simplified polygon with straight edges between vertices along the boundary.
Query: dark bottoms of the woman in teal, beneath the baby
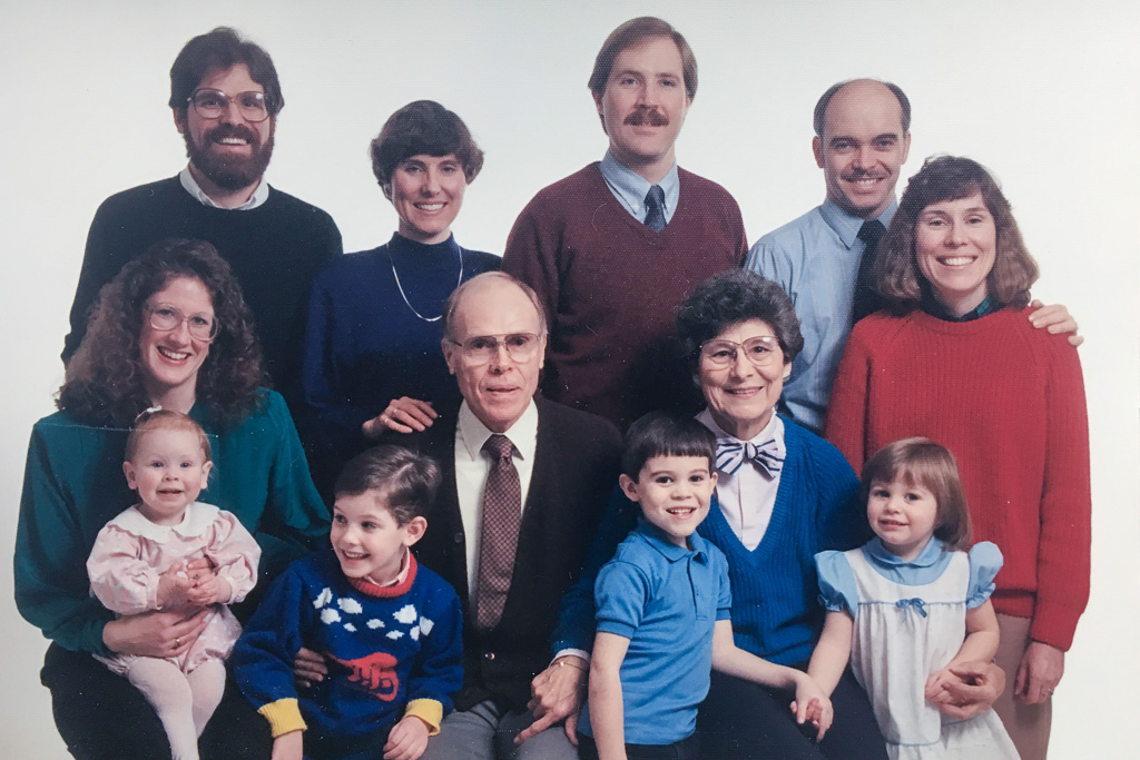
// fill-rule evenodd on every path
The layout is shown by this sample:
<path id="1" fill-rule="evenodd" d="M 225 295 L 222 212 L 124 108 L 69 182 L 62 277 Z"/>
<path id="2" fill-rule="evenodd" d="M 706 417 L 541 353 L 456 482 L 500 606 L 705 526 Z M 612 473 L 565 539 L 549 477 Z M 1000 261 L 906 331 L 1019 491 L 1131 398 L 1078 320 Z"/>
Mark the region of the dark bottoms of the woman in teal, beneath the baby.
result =
<path id="1" fill-rule="evenodd" d="M 81 760 L 170 758 L 170 743 L 142 693 L 87 652 L 52 644 L 40 681 L 51 692 L 51 712 L 67 750 Z M 269 721 L 238 692 L 233 678 L 198 747 L 203 760 L 264 760 L 272 749 Z"/>

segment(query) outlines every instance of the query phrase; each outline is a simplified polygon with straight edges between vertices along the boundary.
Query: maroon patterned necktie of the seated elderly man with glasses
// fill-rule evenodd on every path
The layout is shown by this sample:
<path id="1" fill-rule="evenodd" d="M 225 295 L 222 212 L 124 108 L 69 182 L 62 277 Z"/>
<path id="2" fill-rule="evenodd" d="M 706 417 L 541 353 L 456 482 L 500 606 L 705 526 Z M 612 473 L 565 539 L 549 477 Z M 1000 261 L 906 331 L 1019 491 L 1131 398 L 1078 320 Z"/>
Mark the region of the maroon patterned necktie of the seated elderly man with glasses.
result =
<path id="1" fill-rule="evenodd" d="M 491 468 L 483 487 L 483 525 L 479 549 L 479 583 L 475 586 L 475 623 L 481 629 L 498 624 L 506 606 L 514 573 L 514 554 L 522 523 L 522 487 L 514 467 L 514 444 L 495 433 L 483 443 Z"/>

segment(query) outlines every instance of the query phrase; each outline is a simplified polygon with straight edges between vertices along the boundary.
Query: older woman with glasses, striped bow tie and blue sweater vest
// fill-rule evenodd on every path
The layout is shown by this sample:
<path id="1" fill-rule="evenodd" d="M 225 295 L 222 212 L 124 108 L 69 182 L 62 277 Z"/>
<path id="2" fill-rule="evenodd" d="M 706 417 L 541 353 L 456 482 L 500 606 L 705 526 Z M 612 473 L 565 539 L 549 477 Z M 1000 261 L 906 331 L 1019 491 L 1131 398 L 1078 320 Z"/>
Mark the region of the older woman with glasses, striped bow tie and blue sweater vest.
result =
<path id="1" fill-rule="evenodd" d="M 775 414 L 804 345 L 791 300 L 758 275 L 723 272 L 685 300 L 677 340 L 707 404 L 697 419 L 717 438 L 716 492 L 698 531 L 728 559 L 736 645 L 806 669 L 823 623 L 814 556 L 858 546 L 870 533 L 856 501 L 858 481 L 839 450 Z M 589 649 L 594 575 L 636 514 L 614 496 L 583 578 L 563 599 L 555 651 Z M 982 686 L 962 693 L 967 710 L 976 700 L 988 706 L 996 695 L 1000 675 L 982 668 L 978 678 Z M 831 698 L 834 722 L 816 743 L 814 729 L 796 725 L 790 692 L 714 673 L 698 718 L 702 751 L 718 759 L 886 758 L 850 672 Z"/>

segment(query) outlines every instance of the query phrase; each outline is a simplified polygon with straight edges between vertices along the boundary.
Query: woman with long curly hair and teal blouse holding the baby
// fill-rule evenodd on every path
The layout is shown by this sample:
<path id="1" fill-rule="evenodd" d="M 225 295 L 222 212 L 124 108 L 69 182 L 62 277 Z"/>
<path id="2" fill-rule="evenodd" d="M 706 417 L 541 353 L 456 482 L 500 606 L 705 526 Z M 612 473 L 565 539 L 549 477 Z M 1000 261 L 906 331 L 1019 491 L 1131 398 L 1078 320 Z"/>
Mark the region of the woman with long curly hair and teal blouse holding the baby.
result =
<path id="1" fill-rule="evenodd" d="M 51 640 L 41 679 L 78 758 L 170 757 L 141 693 L 91 655 L 178 656 L 206 621 L 193 607 L 116 619 L 89 591 L 84 565 L 97 533 L 135 501 L 122 466 L 140 412 L 181 411 L 206 431 L 214 468 L 201 500 L 234 513 L 256 538 L 259 587 L 327 533 L 288 409 L 263 382 L 249 309 L 209 243 L 160 243 L 103 288 L 67 365 L 59 411 L 32 431 L 16 534 L 16 603 Z M 199 559 L 188 572 L 211 566 Z M 263 758 L 270 737 L 227 686 L 201 746 L 205 757 Z"/>

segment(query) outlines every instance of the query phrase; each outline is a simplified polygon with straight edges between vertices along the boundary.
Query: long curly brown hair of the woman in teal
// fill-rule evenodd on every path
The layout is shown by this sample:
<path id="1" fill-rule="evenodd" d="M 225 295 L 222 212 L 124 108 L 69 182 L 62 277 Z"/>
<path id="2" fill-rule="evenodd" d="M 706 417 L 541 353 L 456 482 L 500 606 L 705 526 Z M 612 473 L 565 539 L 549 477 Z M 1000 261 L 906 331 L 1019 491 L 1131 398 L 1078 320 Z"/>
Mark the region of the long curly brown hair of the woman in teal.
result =
<path id="1" fill-rule="evenodd" d="M 88 424 L 129 427 L 150 406 L 139 350 L 146 302 L 179 277 L 205 286 L 218 320 L 218 335 L 198 369 L 197 402 L 221 426 L 253 409 L 266 374 L 242 288 L 212 245 L 173 238 L 128 262 L 99 292 L 87 335 L 67 362 L 56 401 L 60 409 Z"/>

